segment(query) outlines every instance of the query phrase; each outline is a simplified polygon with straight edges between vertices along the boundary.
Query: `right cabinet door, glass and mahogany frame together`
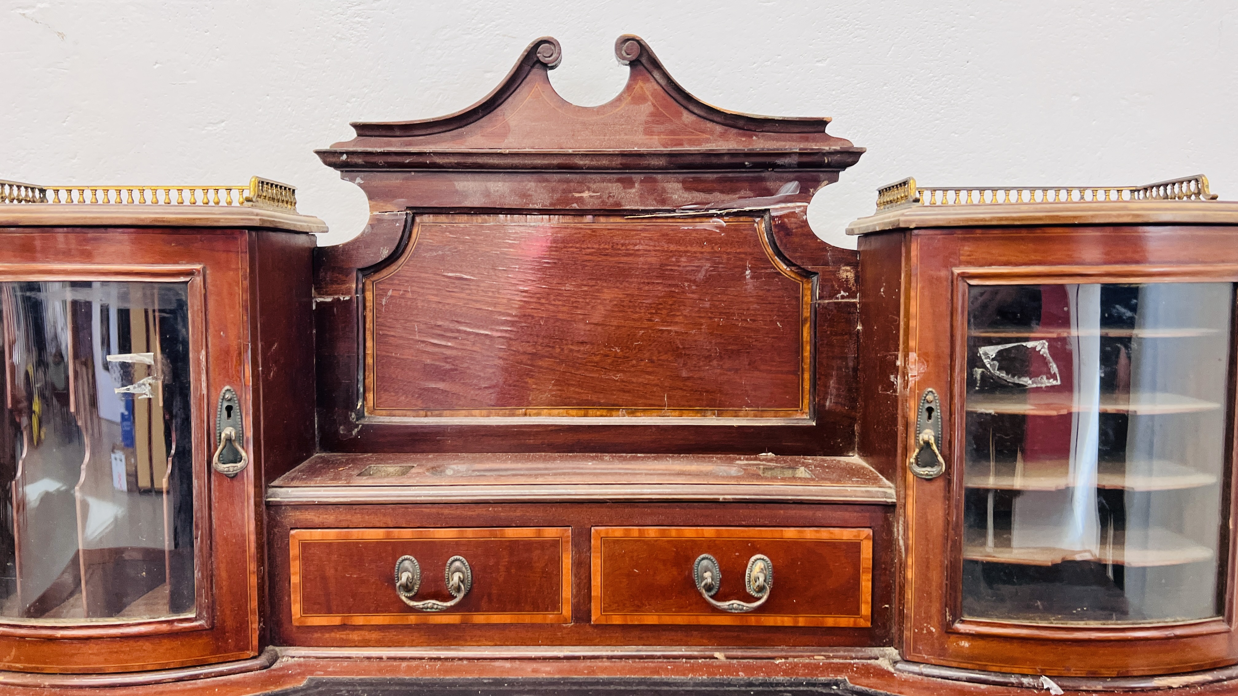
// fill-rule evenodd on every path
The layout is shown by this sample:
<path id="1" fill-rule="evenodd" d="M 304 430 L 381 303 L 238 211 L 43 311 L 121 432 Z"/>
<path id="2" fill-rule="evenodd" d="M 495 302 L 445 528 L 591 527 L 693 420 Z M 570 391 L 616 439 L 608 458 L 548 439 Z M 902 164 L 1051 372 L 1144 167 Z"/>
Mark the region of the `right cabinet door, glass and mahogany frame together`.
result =
<path id="1" fill-rule="evenodd" d="M 914 241 L 909 659 L 1232 663 L 1238 266 L 1066 265 L 1120 253 L 1083 232 L 1055 241 L 1061 263 L 1035 266 L 973 265 L 967 237 Z"/>

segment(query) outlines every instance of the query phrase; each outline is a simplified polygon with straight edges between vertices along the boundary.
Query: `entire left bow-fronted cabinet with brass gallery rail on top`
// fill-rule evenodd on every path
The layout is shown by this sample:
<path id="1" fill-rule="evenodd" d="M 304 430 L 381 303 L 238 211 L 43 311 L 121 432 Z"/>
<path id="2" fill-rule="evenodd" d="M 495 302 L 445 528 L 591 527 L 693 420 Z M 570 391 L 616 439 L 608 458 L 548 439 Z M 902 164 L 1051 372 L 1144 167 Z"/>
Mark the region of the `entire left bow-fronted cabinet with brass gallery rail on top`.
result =
<path id="1" fill-rule="evenodd" d="M 0 669 L 261 663 L 324 227 L 258 178 L 0 194 Z"/>

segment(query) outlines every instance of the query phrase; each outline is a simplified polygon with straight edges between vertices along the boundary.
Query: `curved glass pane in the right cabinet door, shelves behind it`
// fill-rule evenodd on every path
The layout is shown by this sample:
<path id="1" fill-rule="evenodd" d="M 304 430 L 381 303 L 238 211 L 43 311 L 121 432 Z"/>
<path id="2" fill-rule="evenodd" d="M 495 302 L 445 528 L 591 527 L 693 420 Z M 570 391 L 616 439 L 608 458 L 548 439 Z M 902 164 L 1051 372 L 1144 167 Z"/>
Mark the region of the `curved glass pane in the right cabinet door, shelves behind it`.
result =
<path id="1" fill-rule="evenodd" d="M 968 287 L 963 616 L 1221 616 L 1228 282 Z"/>

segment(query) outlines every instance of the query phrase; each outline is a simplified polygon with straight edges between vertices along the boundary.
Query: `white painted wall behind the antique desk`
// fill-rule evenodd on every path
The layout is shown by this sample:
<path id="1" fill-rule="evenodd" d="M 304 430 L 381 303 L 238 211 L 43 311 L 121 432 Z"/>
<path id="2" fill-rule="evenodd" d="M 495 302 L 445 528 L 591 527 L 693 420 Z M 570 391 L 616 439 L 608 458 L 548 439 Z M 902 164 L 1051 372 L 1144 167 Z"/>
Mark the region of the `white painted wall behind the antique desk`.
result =
<path id="1" fill-rule="evenodd" d="M 314 147 L 350 120 L 464 108 L 551 35 L 571 102 L 599 104 L 650 42 L 719 107 L 829 115 L 868 147 L 813 201 L 817 234 L 873 189 L 1125 185 L 1203 172 L 1238 198 L 1238 2 L 1200 0 L 0 0 L 0 178 L 35 183 L 293 183 L 355 235 L 360 189 Z"/>

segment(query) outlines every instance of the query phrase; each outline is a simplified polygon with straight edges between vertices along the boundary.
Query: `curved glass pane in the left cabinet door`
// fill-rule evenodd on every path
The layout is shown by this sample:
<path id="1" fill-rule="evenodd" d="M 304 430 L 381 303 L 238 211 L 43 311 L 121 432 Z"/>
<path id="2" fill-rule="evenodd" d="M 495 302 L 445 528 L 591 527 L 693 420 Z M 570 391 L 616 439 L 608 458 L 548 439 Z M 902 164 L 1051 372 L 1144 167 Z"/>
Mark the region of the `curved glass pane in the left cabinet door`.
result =
<path id="1" fill-rule="evenodd" d="M 0 284 L 0 620 L 192 614 L 188 284 Z"/>

